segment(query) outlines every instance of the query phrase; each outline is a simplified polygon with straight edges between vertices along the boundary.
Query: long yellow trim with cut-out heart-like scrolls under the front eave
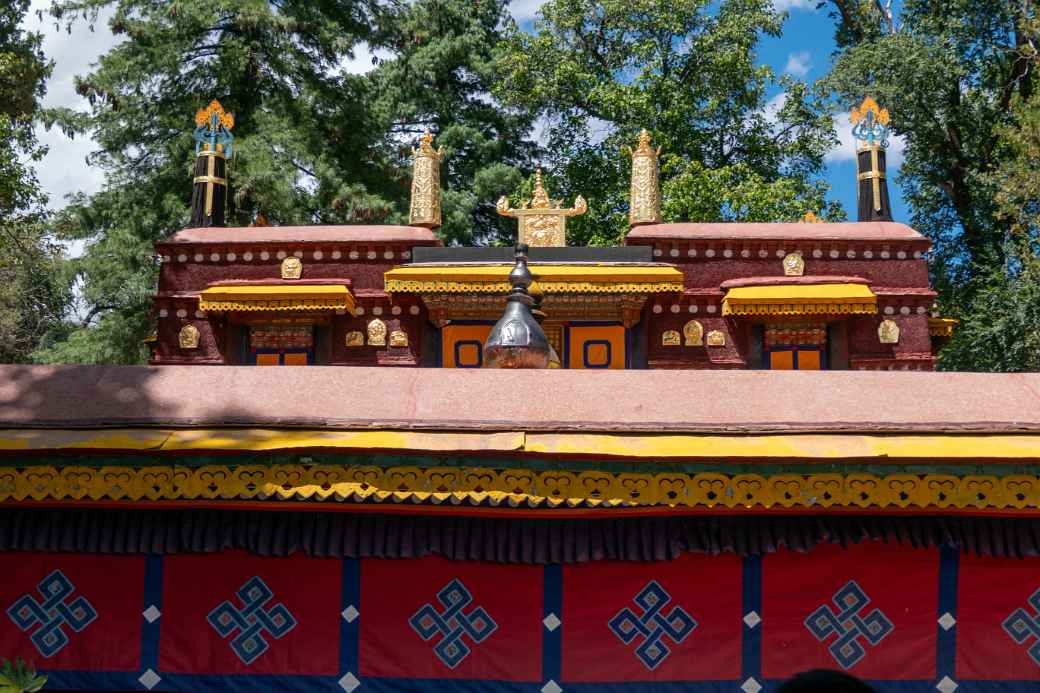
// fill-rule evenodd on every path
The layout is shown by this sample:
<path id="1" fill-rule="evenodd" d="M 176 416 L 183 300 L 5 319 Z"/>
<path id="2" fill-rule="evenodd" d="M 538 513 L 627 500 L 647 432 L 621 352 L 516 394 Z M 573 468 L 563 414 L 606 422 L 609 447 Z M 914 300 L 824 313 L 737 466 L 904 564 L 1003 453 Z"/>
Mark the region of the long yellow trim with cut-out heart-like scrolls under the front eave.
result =
<path id="1" fill-rule="evenodd" d="M 350 465 L 0 469 L 0 502 L 259 499 L 549 508 L 1040 508 L 1035 474 L 627 473 Z"/>

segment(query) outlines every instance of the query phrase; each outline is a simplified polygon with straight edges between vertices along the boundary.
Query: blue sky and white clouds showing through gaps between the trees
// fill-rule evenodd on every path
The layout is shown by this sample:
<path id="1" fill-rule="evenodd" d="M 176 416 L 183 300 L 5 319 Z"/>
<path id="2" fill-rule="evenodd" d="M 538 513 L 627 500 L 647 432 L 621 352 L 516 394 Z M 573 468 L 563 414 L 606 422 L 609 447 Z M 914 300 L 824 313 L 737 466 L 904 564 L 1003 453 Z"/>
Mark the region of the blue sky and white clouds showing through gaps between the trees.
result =
<path id="1" fill-rule="evenodd" d="M 681 1 L 681 0 L 662 0 Z M 789 12 L 781 36 L 766 37 L 759 48 L 760 60 L 771 66 L 779 75 L 788 73 L 805 80 L 815 80 L 825 75 L 834 52 L 834 26 L 826 10 L 815 9 L 816 0 L 774 0 L 776 6 Z M 521 26 L 530 23 L 542 0 L 513 0 L 511 9 Z M 83 108 L 83 99 L 76 95 L 74 77 L 86 74 L 98 56 L 108 50 L 114 37 L 108 31 L 105 12 L 99 18 L 95 31 L 77 26 L 72 32 L 56 30 L 52 22 L 38 22 L 34 10 L 45 9 L 50 0 L 32 0 L 28 28 L 44 33 L 44 50 L 54 60 L 54 74 L 48 83 L 45 99 L 47 106 Z M 363 72 L 371 69 L 371 53 L 362 48 L 347 69 Z M 779 96 L 779 89 L 770 95 Z M 855 104 L 849 104 L 851 108 Z M 883 104 L 884 105 L 884 104 Z M 856 164 L 853 159 L 853 140 L 848 117 L 842 113 L 836 122 L 841 144 L 827 156 L 827 179 L 831 184 L 830 198 L 841 203 L 850 221 L 856 219 Z M 41 139 L 50 147 L 50 153 L 38 166 L 37 173 L 50 206 L 60 208 L 67 195 L 93 194 L 101 188 L 103 178 L 97 169 L 86 164 L 86 156 L 94 150 L 89 138 L 69 139 L 57 130 L 40 131 Z M 889 148 L 889 181 L 902 160 L 902 143 L 892 142 Z M 892 195 L 893 216 L 896 221 L 909 219 L 906 204 L 894 183 L 889 183 Z M 74 249 L 75 252 L 75 249 Z"/>

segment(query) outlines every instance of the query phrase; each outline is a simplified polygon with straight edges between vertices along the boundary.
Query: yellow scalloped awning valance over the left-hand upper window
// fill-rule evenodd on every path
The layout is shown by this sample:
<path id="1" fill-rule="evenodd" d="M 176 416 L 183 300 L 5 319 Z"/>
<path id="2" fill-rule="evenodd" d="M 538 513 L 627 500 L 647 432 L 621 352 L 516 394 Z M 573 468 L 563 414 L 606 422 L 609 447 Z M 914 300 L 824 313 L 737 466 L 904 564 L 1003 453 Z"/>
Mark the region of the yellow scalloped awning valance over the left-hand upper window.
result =
<path id="1" fill-rule="evenodd" d="M 355 310 L 342 284 L 240 284 L 211 286 L 199 294 L 200 310 Z"/>

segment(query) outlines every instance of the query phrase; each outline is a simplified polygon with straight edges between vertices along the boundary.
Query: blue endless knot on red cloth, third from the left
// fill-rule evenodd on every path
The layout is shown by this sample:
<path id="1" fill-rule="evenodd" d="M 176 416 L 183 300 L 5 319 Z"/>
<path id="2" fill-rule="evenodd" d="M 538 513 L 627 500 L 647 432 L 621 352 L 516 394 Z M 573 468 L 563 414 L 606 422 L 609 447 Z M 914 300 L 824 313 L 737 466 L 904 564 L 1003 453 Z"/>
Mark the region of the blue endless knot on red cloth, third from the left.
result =
<path id="1" fill-rule="evenodd" d="M 463 609 L 473 601 L 473 595 L 459 580 L 445 585 L 437 593 L 437 600 L 444 611 L 437 611 L 433 605 L 424 604 L 408 622 L 424 641 L 440 634 L 441 641 L 434 646 L 434 653 L 445 666 L 454 669 L 471 651 L 464 637 L 469 636 L 474 644 L 479 644 L 498 628 L 498 624 L 491 619 L 484 607 L 476 607 L 468 614 L 463 613 Z"/>

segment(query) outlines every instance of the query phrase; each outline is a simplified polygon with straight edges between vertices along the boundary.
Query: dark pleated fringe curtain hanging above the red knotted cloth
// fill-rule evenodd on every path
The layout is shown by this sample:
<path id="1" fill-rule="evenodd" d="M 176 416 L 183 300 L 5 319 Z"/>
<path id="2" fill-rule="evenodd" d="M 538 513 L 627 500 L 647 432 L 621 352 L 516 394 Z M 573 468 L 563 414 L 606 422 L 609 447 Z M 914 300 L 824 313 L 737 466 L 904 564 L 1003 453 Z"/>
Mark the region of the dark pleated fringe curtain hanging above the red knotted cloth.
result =
<path id="1" fill-rule="evenodd" d="M 997 557 L 1040 555 L 1040 518 L 966 516 L 631 517 L 513 519 L 349 512 L 12 508 L 0 551 L 417 558 L 497 563 L 662 561 L 684 551 L 757 555 L 880 539 Z"/>

